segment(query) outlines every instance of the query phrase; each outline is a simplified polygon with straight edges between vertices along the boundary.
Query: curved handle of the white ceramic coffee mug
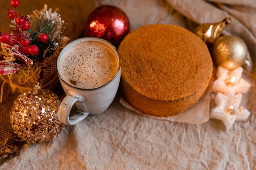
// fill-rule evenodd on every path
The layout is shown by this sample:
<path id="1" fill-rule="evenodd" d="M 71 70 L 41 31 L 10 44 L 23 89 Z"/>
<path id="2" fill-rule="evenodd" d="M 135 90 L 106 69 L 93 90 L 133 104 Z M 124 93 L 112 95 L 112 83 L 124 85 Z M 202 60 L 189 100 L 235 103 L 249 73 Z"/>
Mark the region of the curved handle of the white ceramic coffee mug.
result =
<path id="1" fill-rule="evenodd" d="M 58 109 L 58 120 L 65 125 L 75 125 L 79 121 L 85 119 L 89 113 L 76 110 L 76 113 L 70 117 L 70 111 L 72 106 L 76 102 L 82 102 L 83 97 L 79 95 L 73 95 L 72 93 L 67 94 L 67 96 L 62 100 L 61 105 Z"/>

